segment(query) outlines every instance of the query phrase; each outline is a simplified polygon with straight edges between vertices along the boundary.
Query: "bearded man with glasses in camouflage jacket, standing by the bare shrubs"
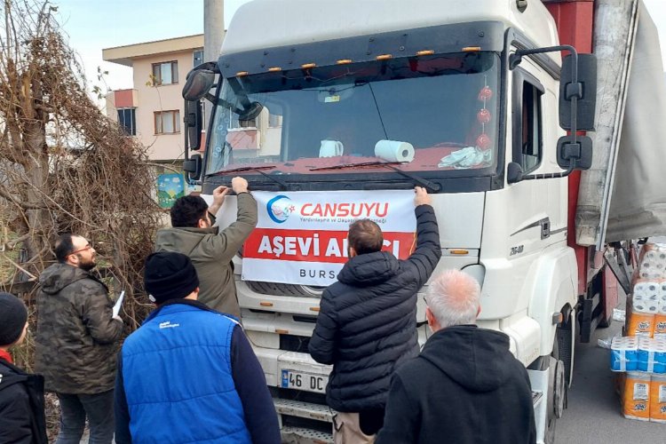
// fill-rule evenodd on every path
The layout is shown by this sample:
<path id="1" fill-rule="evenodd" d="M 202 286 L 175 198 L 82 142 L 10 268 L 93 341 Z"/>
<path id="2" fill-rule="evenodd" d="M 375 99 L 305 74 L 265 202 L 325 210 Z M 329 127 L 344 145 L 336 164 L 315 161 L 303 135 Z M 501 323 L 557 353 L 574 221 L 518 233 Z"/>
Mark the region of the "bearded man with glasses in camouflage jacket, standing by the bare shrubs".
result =
<path id="1" fill-rule="evenodd" d="M 84 237 L 63 234 L 55 244 L 58 262 L 39 276 L 36 370 L 60 403 L 56 444 L 78 444 L 86 417 L 91 443 L 114 435 L 117 343 L 123 321 L 113 317 L 107 286 L 91 274 L 95 249 Z"/>

